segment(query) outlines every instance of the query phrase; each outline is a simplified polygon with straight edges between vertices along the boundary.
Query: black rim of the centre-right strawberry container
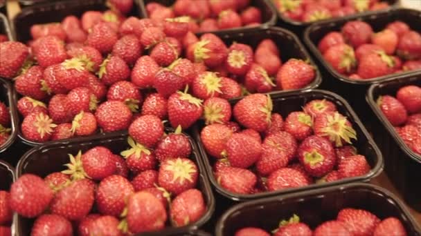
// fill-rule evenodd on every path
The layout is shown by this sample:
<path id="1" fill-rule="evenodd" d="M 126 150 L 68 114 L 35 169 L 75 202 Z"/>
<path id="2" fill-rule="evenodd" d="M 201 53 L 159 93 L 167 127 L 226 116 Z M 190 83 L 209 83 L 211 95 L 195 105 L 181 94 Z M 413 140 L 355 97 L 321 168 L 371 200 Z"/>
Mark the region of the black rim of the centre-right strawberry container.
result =
<path id="1" fill-rule="evenodd" d="M 215 180 L 215 176 L 213 175 L 212 167 L 209 163 L 209 159 L 208 159 L 209 157 L 206 153 L 206 150 L 200 147 L 199 150 L 201 153 L 201 158 L 203 159 L 202 161 L 204 162 L 206 171 L 208 173 L 208 179 L 209 181 L 211 181 L 211 184 L 213 185 L 213 187 L 218 193 L 220 193 L 224 197 L 227 197 L 233 201 L 248 201 L 251 199 L 259 199 L 263 197 L 271 197 L 275 195 L 283 195 L 283 194 L 288 194 L 288 193 L 298 193 L 298 192 L 303 192 L 303 191 L 307 192 L 309 190 L 319 189 L 319 188 L 328 188 L 330 186 L 340 186 L 341 184 L 347 184 L 347 183 L 351 183 L 355 181 L 368 181 L 370 179 L 373 179 L 380 173 L 382 173 L 382 170 L 384 168 L 383 155 L 381 151 L 379 150 L 379 148 L 377 147 L 377 144 L 375 144 L 375 141 L 373 140 L 373 138 L 369 135 L 365 126 L 361 123 L 361 120 L 359 119 L 359 117 L 357 117 L 354 110 L 352 110 L 352 108 L 350 107 L 350 105 L 345 99 L 343 99 L 342 97 L 340 97 L 339 95 L 333 92 L 329 92 L 326 90 L 317 90 L 317 89 L 302 90 L 298 92 L 290 91 L 290 92 L 278 93 L 276 95 L 270 95 L 270 96 L 272 99 L 276 99 L 276 98 L 294 97 L 296 95 L 303 95 L 303 94 L 328 95 L 332 97 L 333 99 L 336 99 L 337 101 L 341 102 L 341 104 L 343 104 L 344 108 L 349 112 L 350 118 L 352 118 L 355 124 L 359 127 L 362 134 L 366 137 L 368 144 L 370 145 L 371 148 L 373 148 L 373 151 L 378 158 L 375 166 L 373 166 L 373 168 L 370 169 L 370 172 L 367 173 L 366 175 L 359 176 L 359 177 L 346 178 L 346 179 L 341 179 L 339 181 L 333 181 L 333 182 L 328 182 L 328 183 L 323 183 L 323 184 L 312 184 L 312 185 L 304 186 L 300 188 L 288 188 L 285 190 L 268 191 L 264 193 L 256 193 L 256 194 L 250 194 L 250 195 L 238 194 L 238 193 L 233 193 L 229 190 L 225 190 L 224 188 L 222 188 L 222 186 L 220 186 L 220 184 L 217 184 L 217 181 Z M 239 99 L 241 98 L 233 99 L 231 100 L 231 102 L 238 101 Z M 201 142 L 201 139 L 200 139 L 200 130 L 199 130 L 198 125 L 195 125 L 194 129 L 195 129 L 194 130 L 195 139 L 199 143 Z"/>

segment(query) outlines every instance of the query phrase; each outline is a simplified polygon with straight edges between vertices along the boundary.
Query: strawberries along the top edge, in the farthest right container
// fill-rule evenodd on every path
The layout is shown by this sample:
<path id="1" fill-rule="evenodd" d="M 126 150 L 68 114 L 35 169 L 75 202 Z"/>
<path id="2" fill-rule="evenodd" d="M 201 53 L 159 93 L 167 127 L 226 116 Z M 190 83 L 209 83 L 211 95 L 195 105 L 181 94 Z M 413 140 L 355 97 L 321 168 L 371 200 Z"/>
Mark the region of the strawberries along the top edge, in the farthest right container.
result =
<path id="1" fill-rule="evenodd" d="M 389 7 L 379 0 L 272 0 L 284 17 L 293 21 L 312 22 L 333 17 L 345 17 L 368 10 Z"/>

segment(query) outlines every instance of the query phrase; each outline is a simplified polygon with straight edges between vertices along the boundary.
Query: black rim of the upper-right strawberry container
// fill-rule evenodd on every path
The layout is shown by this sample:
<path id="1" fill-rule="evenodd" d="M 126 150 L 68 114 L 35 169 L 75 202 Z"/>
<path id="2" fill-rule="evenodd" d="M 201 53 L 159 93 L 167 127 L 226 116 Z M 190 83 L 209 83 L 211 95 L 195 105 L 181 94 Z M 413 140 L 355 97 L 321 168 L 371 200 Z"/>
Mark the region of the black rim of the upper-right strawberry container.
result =
<path id="1" fill-rule="evenodd" d="M 337 18 L 337 19 L 328 19 L 328 20 L 325 20 L 325 21 L 317 21 L 304 30 L 304 42 L 307 45 L 307 47 L 310 48 L 310 51 L 313 53 L 314 57 L 316 57 L 316 59 L 321 64 L 323 64 L 325 69 L 328 70 L 330 75 L 332 75 L 332 77 L 334 77 L 335 79 L 339 79 L 340 81 L 343 81 L 345 83 L 352 83 L 352 84 L 357 84 L 357 85 L 370 85 L 370 84 L 377 83 L 377 82 L 380 82 L 380 81 L 390 81 L 390 80 L 397 79 L 397 78 L 400 78 L 400 77 L 409 77 L 409 76 L 414 75 L 414 74 L 415 75 L 421 74 L 421 70 L 412 70 L 412 71 L 407 71 L 407 72 L 395 73 L 395 74 L 391 74 L 391 75 L 384 75 L 384 76 L 381 76 L 381 77 L 375 77 L 375 78 L 372 78 L 372 79 L 358 79 L 358 80 L 357 79 L 349 79 L 348 77 L 346 77 L 344 75 L 341 75 L 339 72 L 337 72 L 337 70 L 335 70 L 330 65 L 330 63 L 325 61 L 325 59 L 323 58 L 323 55 L 321 54 L 321 52 L 317 48 L 315 42 L 313 42 L 310 39 L 310 34 L 312 32 L 314 32 L 314 30 L 318 30 L 319 28 L 323 28 L 324 26 L 332 25 L 334 23 L 337 23 L 338 21 L 348 22 L 348 21 L 353 21 L 353 20 L 357 20 L 357 19 L 362 20 L 362 21 L 366 21 L 367 19 L 370 19 L 370 17 L 373 17 L 373 15 L 376 15 L 376 14 L 395 14 L 395 12 L 401 12 L 401 11 L 411 11 L 411 12 L 421 13 L 418 10 L 413 10 L 413 9 L 409 9 L 409 8 L 388 8 L 388 10 L 378 10 L 378 11 L 374 11 L 374 12 L 365 12 L 365 13 L 350 15 L 350 16 L 347 16 L 347 17 L 341 17 L 341 18 Z"/>

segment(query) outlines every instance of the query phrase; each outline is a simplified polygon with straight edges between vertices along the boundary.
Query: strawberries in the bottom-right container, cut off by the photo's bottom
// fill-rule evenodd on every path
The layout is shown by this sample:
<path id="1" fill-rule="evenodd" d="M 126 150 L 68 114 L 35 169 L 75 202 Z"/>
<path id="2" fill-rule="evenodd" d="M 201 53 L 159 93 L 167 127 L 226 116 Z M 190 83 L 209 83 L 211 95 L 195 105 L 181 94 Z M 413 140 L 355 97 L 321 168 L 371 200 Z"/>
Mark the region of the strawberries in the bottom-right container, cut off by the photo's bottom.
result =
<path id="1" fill-rule="evenodd" d="M 337 219 L 319 224 L 314 230 L 304 222 L 300 222 L 298 215 L 288 220 L 282 220 L 279 227 L 272 232 L 273 236 L 406 236 L 404 225 L 396 217 L 379 219 L 368 210 L 357 208 L 343 208 L 339 211 Z M 238 230 L 235 236 L 270 236 L 265 230 L 256 227 L 247 227 Z"/>

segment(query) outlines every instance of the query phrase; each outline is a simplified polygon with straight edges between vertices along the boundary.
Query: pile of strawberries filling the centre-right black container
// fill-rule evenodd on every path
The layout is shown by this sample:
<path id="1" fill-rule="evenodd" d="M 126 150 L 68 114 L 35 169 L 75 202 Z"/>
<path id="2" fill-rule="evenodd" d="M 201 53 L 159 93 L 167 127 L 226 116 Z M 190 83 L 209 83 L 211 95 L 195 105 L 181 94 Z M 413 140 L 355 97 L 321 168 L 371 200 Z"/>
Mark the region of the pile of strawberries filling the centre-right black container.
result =
<path id="1" fill-rule="evenodd" d="M 200 141 L 215 161 L 218 184 L 232 193 L 297 188 L 370 171 L 366 158 L 352 146 L 356 131 L 331 101 L 310 101 L 284 120 L 272 112 L 266 95 L 244 97 L 232 109 L 228 102 L 213 99 L 220 102 L 213 112 L 206 112 L 205 104 L 207 126 Z M 231 115 L 238 123 L 230 121 Z"/>

